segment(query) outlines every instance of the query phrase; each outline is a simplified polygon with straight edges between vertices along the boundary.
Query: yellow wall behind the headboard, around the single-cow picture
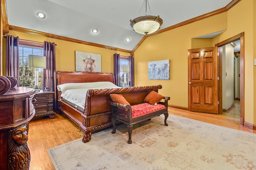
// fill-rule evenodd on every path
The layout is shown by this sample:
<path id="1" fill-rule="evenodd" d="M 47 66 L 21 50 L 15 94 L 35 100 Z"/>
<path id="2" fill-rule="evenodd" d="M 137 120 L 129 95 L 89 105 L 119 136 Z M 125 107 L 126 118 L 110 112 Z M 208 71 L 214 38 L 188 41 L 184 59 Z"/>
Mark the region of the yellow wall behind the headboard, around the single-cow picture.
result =
<path id="1" fill-rule="evenodd" d="M 84 51 L 89 53 L 101 54 L 101 71 L 102 72 L 114 72 L 114 59 L 113 54 L 118 53 L 122 56 L 129 56 L 130 53 L 124 53 L 121 51 L 115 51 L 110 49 L 103 49 L 100 47 L 94 47 L 90 45 L 82 45 L 78 43 L 72 43 L 69 41 L 63 41 L 59 39 L 53 39 L 38 35 L 32 35 L 28 33 L 21 33 L 18 31 L 11 31 L 9 35 L 19 36 L 20 39 L 26 39 L 31 41 L 50 41 L 57 44 L 56 48 L 56 70 L 57 71 L 75 71 L 76 60 L 75 51 Z M 5 41 L 5 39 L 3 39 Z M 3 42 L 3 49 L 5 49 L 5 42 Z M 3 51 L 5 56 L 5 51 Z M 5 57 L 3 57 L 3 63 L 5 63 Z M 3 66 L 3 75 L 5 75 L 5 65 Z"/>

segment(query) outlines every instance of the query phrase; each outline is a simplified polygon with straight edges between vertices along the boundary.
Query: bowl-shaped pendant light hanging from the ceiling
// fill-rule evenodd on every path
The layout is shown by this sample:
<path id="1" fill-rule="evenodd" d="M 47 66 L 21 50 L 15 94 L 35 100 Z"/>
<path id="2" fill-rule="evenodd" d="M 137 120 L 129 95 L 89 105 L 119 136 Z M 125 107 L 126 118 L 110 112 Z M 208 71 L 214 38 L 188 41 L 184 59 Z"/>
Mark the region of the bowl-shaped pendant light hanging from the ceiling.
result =
<path id="1" fill-rule="evenodd" d="M 148 35 L 160 29 L 160 26 L 162 25 L 163 20 L 159 16 L 148 15 L 147 7 L 150 10 L 148 0 L 144 0 L 142 4 L 142 8 L 145 9 L 145 7 L 146 7 L 145 16 L 140 16 L 138 18 L 130 20 L 130 25 L 133 27 L 134 31 L 136 31 L 137 33 Z"/>

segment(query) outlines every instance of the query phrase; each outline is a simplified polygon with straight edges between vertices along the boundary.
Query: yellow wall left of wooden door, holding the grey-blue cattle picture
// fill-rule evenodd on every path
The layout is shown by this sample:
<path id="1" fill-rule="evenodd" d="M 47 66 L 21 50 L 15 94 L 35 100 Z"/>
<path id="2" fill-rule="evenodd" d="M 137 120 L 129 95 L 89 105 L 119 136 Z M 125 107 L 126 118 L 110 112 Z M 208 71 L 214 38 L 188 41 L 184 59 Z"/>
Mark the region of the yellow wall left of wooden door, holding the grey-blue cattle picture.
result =
<path id="1" fill-rule="evenodd" d="M 218 24 L 217 24 L 218 23 Z M 218 26 L 216 26 L 218 25 Z M 170 96 L 169 104 L 188 107 L 188 49 L 192 38 L 227 29 L 227 13 L 150 36 L 134 53 L 135 85 L 161 84 L 159 93 Z M 193 46 L 202 45 L 198 40 Z M 207 40 L 207 47 L 211 45 Z M 170 80 L 148 80 L 148 62 L 170 59 Z"/>

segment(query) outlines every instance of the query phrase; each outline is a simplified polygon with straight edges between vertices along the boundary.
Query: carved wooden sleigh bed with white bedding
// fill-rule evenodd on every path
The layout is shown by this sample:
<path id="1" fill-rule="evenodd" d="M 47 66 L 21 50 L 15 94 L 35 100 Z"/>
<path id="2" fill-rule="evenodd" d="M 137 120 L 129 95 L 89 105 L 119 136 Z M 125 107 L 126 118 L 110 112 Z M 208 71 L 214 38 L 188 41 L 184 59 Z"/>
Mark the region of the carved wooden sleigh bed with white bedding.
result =
<path id="1" fill-rule="evenodd" d="M 143 100 L 152 90 L 158 92 L 158 89 L 162 88 L 161 85 L 120 88 L 114 85 L 114 75 L 112 73 L 57 71 L 57 78 L 59 111 L 67 115 L 84 132 L 82 138 L 84 143 L 90 141 L 93 132 L 112 125 L 111 106 L 107 103 L 111 100 L 110 94 L 122 93 L 126 96 L 128 102 L 136 104 L 133 100 L 134 95 L 139 100 Z M 89 83 L 99 83 L 100 85 L 91 87 L 91 85 L 88 86 Z M 105 83 L 108 84 L 106 87 L 104 86 Z M 78 90 L 80 94 L 76 98 L 84 96 L 81 99 L 81 101 L 84 101 L 83 106 L 65 98 L 68 96 L 66 95 L 68 90 L 70 90 L 69 94 L 73 93 L 72 90 L 74 89 L 71 88 L 73 85 L 74 89 Z M 80 88 L 84 85 L 88 89 Z M 63 89 L 66 91 L 64 92 Z M 129 98 L 129 96 L 131 97 Z"/>

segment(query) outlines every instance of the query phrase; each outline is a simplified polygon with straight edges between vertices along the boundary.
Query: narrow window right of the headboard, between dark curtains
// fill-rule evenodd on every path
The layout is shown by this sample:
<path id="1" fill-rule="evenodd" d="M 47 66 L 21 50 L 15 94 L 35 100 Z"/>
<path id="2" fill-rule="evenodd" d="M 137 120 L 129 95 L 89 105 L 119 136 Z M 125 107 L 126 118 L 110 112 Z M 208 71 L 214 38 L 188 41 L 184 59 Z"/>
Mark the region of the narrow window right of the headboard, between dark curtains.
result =
<path id="1" fill-rule="evenodd" d="M 120 86 L 130 86 L 130 65 L 129 57 L 120 56 Z"/>

